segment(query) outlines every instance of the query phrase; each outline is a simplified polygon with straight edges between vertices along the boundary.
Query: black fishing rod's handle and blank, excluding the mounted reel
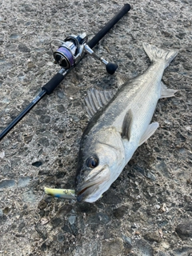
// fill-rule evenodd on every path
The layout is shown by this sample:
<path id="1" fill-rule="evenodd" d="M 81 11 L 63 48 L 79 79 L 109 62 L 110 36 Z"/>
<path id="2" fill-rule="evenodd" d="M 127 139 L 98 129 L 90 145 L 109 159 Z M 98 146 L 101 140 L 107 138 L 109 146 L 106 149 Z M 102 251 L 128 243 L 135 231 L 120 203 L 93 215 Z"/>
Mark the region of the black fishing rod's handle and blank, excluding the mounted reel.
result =
<path id="1" fill-rule="evenodd" d="M 94 35 L 94 38 L 92 38 L 87 44 L 90 46 L 90 48 L 94 48 L 98 44 L 98 42 L 109 32 L 109 30 L 130 10 L 130 5 L 126 3 L 122 9 L 102 28 L 102 30 L 98 31 L 97 34 Z M 73 66 L 74 68 L 74 66 Z M 72 69 L 72 68 L 71 68 Z M 70 70 L 71 70 L 70 69 Z M 66 77 L 66 75 L 70 72 L 70 70 L 64 70 L 61 69 L 57 74 L 54 75 L 53 78 L 50 79 L 49 82 L 46 83 L 45 86 L 42 86 L 42 91 L 38 94 L 36 98 L 28 106 L 26 106 L 25 110 L 22 110 L 20 114 L 18 114 L 18 117 L 15 118 L 12 122 L 10 122 L 10 125 L 6 127 L 6 129 L 2 130 L 2 133 L 0 134 L 0 141 L 2 138 L 10 132 L 16 126 L 16 124 L 24 118 L 24 116 L 42 99 L 46 94 L 51 94 L 53 90 L 59 85 L 60 82 Z"/>

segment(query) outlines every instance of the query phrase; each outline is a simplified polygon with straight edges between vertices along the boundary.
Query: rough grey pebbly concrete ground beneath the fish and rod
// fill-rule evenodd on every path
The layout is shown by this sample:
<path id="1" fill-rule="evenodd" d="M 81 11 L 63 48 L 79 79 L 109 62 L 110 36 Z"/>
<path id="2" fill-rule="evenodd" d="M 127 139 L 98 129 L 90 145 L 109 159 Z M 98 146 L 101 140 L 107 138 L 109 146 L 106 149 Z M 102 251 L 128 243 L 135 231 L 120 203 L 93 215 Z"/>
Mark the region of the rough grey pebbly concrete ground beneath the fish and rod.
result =
<path id="1" fill-rule="evenodd" d="M 60 70 L 50 41 L 82 32 L 92 38 L 124 3 L 2 0 L 0 130 Z M 116 73 L 84 58 L 0 142 L 0 255 L 192 255 L 192 3 L 129 3 L 129 14 L 95 47 L 118 64 Z M 178 50 L 162 79 L 178 92 L 158 102 L 158 130 L 98 202 L 47 196 L 44 186 L 74 188 L 86 91 L 115 88 L 118 74 L 146 70 L 142 42 Z"/>

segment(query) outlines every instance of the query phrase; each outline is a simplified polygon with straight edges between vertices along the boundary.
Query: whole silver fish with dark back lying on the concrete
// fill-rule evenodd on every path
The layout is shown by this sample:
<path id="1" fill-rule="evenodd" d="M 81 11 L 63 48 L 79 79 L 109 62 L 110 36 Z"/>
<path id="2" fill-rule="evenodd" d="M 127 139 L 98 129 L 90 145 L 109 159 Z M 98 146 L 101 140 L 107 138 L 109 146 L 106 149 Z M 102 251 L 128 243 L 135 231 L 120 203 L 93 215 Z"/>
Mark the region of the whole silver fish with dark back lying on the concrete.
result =
<path id="1" fill-rule="evenodd" d="M 152 122 L 159 98 L 177 90 L 162 83 L 162 74 L 178 54 L 143 43 L 151 64 L 136 78 L 109 91 L 90 90 L 86 98 L 90 122 L 82 134 L 76 176 L 78 202 L 95 202 L 118 178 L 138 146 L 158 128 Z"/>

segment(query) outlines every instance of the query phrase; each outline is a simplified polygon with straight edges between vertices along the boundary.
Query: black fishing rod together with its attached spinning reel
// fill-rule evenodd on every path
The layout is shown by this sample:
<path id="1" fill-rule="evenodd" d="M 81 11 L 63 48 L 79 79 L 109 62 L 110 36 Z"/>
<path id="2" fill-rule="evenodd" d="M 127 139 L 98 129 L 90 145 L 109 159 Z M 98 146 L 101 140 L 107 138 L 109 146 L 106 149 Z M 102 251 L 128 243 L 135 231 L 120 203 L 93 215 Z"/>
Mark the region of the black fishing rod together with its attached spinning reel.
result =
<path id="1" fill-rule="evenodd" d="M 10 125 L 8 125 L 4 130 L 2 130 L 2 133 L 0 134 L 0 141 L 46 94 L 50 95 L 54 91 L 66 75 L 69 74 L 79 62 L 81 62 L 82 58 L 84 58 L 86 54 L 90 54 L 94 58 L 97 58 L 106 66 L 106 71 L 109 74 L 114 74 L 118 65 L 112 62 L 107 62 L 104 58 L 99 57 L 98 54 L 94 53 L 92 48 L 98 44 L 98 42 L 129 10 L 130 5 L 125 4 L 118 14 L 116 14 L 110 22 L 106 23 L 106 26 L 104 26 L 102 30 L 98 31 L 98 34 L 95 34 L 94 38 L 89 42 L 87 42 L 86 33 L 79 35 L 72 34 L 66 37 L 63 41 L 55 39 L 50 42 L 50 48 L 54 55 L 54 62 L 61 66 L 62 69 L 59 70 L 58 73 L 46 83 L 46 85 L 42 86 L 42 91 L 32 102 L 30 102 L 28 106 L 26 106 L 26 109 L 22 110 L 22 112 L 18 114 L 18 117 L 10 122 Z"/>

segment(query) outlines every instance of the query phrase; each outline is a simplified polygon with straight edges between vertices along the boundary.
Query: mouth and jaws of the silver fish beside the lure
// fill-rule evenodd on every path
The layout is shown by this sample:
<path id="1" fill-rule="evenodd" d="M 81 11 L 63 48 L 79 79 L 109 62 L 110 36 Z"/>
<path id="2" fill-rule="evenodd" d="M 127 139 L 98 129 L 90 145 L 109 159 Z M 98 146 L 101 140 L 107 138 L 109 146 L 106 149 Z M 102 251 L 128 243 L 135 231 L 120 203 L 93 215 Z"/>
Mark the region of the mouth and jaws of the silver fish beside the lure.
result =
<path id="1" fill-rule="evenodd" d="M 102 168 L 94 168 L 94 170 L 92 170 L 90 174 L 88 174 L 88 176 L 85 178 L 85 180 L 78 185 L 76 192 L 77 201 L 95 202 L 102 196 L 102 193 L 105 191 L 102 189 L 102 187 L 109 179 L 109 166 L 105 165 L 102 166 Z"/>

